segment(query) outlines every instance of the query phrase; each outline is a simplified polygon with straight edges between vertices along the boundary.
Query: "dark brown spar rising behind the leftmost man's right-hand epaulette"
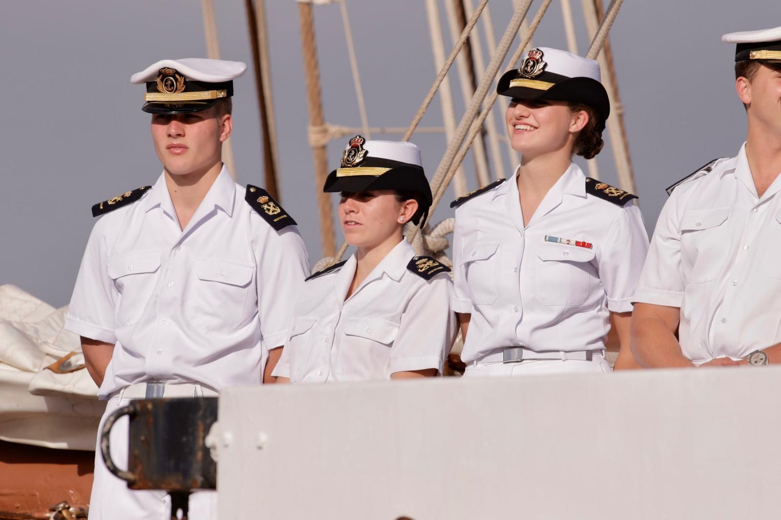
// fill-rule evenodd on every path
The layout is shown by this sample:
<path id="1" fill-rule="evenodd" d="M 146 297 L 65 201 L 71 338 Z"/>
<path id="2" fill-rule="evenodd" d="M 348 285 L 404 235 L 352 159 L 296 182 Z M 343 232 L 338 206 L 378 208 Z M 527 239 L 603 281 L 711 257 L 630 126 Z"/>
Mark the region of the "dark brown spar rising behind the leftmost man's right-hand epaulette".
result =
<path id="1" fill-rule="evenodd" d="M 266 39 L 265 0 L 244 0 L 249 25 L 249 43 L 252 49 L 252 66 L 258 93 L 260 130 L 263 144 L 263 183 L 273 198 L 282 201 L 276 172 L 276 133 L 273 130 L 273 107 L 270 105 L 268 41 Z M 264 66 L 265 65 L 265 66 Z"/>

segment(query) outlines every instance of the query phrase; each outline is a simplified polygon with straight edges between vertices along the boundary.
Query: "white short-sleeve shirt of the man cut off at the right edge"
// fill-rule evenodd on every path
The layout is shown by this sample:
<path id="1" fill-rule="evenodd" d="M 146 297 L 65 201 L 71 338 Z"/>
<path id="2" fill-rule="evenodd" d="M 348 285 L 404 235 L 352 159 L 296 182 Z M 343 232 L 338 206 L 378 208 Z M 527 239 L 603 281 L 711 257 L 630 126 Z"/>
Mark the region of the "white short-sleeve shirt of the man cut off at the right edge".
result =
<path id="1" fill-rule="evenodd" d="M 695 365 L 781 341 L 781 176 L 761 197 L 746 158 L 681 183 L 659 215 L 633 301 L 680 308 Z"/>

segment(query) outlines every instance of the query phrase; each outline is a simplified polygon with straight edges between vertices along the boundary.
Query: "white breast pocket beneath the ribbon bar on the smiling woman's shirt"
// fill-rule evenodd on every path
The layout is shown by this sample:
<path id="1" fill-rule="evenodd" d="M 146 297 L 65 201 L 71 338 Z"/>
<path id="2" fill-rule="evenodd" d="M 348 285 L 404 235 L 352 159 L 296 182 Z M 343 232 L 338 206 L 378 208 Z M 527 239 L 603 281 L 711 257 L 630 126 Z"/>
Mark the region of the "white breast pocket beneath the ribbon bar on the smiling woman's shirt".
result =
<path id="1" fill-rule="evenodd" d="M 537 250 L 537 301 L 542 305 L 583 305 L 591 284 L 594 250 L 553 242 Z"/>

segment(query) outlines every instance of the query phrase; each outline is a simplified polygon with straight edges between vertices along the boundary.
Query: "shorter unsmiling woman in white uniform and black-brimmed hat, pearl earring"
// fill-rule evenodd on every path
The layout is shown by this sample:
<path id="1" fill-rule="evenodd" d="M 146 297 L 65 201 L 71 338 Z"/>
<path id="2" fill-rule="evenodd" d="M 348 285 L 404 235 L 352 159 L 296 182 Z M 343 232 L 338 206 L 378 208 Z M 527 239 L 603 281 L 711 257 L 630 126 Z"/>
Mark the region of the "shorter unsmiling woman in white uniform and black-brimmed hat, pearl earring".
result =
<path id="1" fill-rule="evenodd" d="M 455 336 L 450 269 L 403 235 L 432 197 L 415 144 L 353 137 L 323 191 L 341 192 L 348 260 L 309 276 L 294 309 L 278 381 L 435 376 Z M 287 378 L 287 379 L 286 379 Z"/>

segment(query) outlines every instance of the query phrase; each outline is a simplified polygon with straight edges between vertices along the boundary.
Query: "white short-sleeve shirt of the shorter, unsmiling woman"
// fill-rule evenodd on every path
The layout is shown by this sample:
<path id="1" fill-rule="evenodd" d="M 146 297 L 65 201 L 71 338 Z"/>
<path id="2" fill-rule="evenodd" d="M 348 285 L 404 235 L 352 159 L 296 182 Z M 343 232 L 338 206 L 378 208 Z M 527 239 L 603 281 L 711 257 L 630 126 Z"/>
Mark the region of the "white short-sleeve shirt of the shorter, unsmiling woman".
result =
<path id="1" fill-rule="evenodd" d="M 455 337 L 453 283 L 445 269 L 430 280 L 408 269 L 413 257 L 412 246 L 401 240 L 346 300 L 355 255 L 341 268 L 307 280 L 273 375 L 291 383 L 322 383 L 441 372 Z"/>

